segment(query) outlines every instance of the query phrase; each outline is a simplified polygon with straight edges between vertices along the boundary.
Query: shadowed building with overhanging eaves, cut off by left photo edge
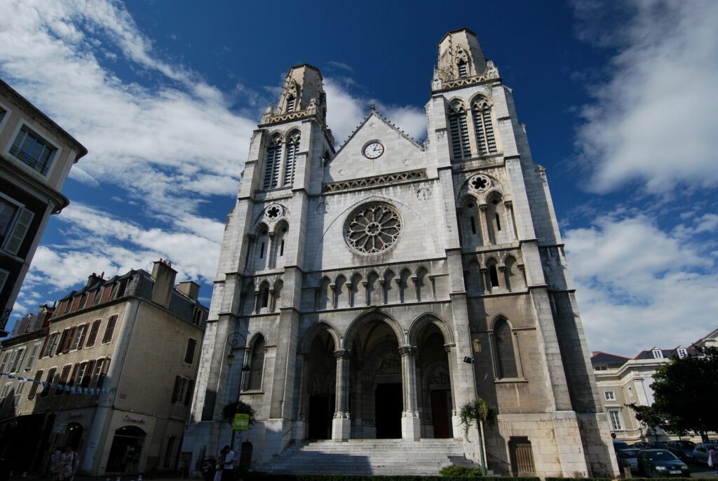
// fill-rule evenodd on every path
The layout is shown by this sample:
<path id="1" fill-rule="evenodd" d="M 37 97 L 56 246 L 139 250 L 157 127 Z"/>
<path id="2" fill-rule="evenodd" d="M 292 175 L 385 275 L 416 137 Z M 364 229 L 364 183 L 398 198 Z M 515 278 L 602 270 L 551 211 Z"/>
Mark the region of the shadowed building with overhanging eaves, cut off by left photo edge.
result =
<path id="1" fill-rule="evenodd" d="M 0 337 L 82 144 L 0 80 Z"/>

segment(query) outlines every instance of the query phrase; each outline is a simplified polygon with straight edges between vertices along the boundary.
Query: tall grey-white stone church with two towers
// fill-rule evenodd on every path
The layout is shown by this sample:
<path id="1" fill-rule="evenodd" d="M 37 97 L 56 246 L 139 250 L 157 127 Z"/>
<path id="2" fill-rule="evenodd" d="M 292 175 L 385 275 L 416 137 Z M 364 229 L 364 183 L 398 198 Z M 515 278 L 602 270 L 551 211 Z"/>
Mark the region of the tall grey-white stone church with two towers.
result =
<path id="1" fill-rule="evenodd" d="M 498 409 L 493 472 L 615 477 L 546 171 L 475 33 L 438 51 L 423 144 L 372 106 L 337 146 L 319 70 L 289 70 L 225 225 L 193 463 L 230 442 L 238 400 L 257 414 L 236 444 L 255 469 L 477 462 L 458 415 L 477 390 Z"/>

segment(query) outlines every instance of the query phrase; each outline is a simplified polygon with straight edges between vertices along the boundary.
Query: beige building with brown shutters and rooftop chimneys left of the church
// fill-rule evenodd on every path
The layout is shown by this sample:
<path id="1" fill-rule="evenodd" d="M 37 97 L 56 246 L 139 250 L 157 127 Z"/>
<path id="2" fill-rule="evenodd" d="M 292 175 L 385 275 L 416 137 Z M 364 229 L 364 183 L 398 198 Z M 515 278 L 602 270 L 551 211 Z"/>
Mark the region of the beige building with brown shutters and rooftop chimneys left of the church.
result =
<path id="1" fill-rule="evenodd" d="M 0 457 L 43 472 L 70 444 L 85 475 L 175 469 L 208 309 L 162 260 L 103 279 L 1 342 Z"/>

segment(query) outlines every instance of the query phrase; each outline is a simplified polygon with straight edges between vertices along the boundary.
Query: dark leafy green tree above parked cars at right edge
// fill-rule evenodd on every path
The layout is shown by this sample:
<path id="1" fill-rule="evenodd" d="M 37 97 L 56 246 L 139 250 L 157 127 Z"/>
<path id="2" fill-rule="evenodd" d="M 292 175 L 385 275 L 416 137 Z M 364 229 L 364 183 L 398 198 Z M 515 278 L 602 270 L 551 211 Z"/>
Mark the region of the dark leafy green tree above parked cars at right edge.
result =
<path id="1" fill-rule="evenodd" d="M 674 434 L 688 431 L 705 438 L 718 429 L 718 349 L 704 348 L 702 355 L 671 358 L 653 375 L 653 406 L 629 404 L 636 418 Z"/>

